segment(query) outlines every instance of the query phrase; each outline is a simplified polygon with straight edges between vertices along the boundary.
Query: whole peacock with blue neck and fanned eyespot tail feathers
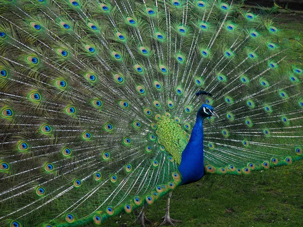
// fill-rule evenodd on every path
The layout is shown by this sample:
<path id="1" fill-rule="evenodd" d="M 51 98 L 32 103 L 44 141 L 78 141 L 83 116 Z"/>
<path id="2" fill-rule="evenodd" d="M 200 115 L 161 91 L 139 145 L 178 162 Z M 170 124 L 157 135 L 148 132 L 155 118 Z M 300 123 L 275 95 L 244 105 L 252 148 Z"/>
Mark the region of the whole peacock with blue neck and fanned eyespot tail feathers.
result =
<path id="1" fill-rule="evenodd" d="M 174 225 L 176 187 L 302 159 L 302 65 L 242 6 L 0 0 L 0 225 L 99 225 L 166 194 Z"/>

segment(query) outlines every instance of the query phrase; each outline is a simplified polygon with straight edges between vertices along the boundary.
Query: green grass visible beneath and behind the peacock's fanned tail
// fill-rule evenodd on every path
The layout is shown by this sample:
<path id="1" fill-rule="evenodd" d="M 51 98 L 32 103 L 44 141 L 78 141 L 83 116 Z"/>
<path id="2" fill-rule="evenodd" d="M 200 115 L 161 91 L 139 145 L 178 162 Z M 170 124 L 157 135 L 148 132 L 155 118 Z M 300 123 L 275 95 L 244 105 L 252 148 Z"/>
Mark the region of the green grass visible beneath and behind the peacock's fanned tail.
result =
<path id="1" fill-rule="evenodd" d="M 303 13 L 282 13 L 274 19 L 284 37 L 303 42 Z M 294 41 L 292 41 L 294 42 Z M 303 48 L 295 48 L 289 63 L 303 62 Z M 199 182 L 178 187 L 171 200 L 171 217 L 182 220 L 180 226 L 303 226 L 303 161 L 290 166 L 252 172 L 250 176 L 207 175 Z M 166 199 L 147 206 L 146 216 L 159 226 Z M 112 227 L 132 224 L 138 210 L 107 220 Z"/>

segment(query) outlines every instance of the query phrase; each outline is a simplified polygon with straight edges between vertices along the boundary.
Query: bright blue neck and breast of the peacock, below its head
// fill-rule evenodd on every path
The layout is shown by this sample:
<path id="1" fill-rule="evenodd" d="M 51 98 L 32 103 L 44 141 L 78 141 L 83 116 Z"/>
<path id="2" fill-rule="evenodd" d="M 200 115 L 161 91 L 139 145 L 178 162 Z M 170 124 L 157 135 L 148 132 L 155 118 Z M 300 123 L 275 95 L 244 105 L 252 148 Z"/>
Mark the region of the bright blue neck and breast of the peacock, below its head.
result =
<path id="1" fill-rule="evenodd" d="M 181 185 L 200 180 L 204 176 L 203 154 L 203 121 L 205 117 L 197 114 L 196 123 L 192 129 L 189 142 L 182 152 L 179 172 Z"/>

